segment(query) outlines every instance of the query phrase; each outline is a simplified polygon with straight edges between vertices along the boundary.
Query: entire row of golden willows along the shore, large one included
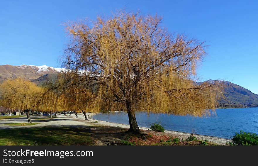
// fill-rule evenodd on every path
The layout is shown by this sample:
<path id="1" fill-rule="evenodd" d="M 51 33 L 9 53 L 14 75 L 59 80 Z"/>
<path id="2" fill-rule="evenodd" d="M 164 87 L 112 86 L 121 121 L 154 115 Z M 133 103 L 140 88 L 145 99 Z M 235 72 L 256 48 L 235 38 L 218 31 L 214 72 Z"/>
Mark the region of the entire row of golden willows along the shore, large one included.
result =
<path id="1" fill-rule="evenodd" d="M 127 111 L 128 132 L 140 133 L 135 111 L 209 116 L 222 93 L 214 82 L 195 84 L 206 55 L 203 42 L 169 33 L 159 16 L 118 12 L 109 19 L 67 23 L 65 69 L 55 82 L 1 85 L 1 105 L 26 112 Z"/>

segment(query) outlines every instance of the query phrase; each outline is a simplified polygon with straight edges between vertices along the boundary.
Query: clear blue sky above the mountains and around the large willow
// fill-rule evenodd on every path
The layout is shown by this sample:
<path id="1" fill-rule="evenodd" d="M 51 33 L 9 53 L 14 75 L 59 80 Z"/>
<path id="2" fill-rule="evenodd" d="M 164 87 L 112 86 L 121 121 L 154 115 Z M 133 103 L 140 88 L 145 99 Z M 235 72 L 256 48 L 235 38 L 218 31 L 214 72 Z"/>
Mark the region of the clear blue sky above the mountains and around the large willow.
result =
<path id="1" fill-rule="evenodd" d="M 225 79 L 258 94 L 258 1 L 0 0 L 0 65 L 58 67 L 62 23 L 125 9 L 159 14 L 169 31 L 207 41 L 201 80 Z"/>

